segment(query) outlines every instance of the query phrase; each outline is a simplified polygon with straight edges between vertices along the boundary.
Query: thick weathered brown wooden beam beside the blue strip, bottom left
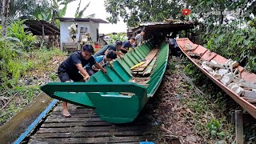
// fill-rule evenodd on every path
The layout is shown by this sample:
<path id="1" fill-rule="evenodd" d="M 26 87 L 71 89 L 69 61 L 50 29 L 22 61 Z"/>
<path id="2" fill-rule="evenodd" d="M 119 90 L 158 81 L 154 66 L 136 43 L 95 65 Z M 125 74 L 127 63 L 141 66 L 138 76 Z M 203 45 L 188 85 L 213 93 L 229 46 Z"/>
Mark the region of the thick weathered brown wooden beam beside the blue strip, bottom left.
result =
<path id="1" fill-rule="evenodd" d="M 14 142 L 38 118 L 52 100 L 53 98 L 50 98 L 45 93 L 41 93 L 30 104 L 26 105 L 23 110 L 15 114 L 9 122 L 0 127 L 1 143 Z"/>

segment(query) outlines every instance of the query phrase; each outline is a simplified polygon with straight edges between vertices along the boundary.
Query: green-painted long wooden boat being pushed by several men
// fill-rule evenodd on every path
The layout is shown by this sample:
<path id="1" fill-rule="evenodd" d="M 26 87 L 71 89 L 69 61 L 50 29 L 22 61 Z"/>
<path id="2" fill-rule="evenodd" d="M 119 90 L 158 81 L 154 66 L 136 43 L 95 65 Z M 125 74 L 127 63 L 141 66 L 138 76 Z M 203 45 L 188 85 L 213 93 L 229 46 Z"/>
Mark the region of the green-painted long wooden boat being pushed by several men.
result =
<path id="1" fill-rule="evenodd" d="M 89 82 L 50 82 L 41 87 L 52 98 L 79 106 L 94 107 L 102 120 L 112 123 L 133 122 L 150 97 L 154 95 L 166 70 L 169 46 L 166 42 L 158 47 L 153 70 L 145 85 L 129 82 L 134 78 L 130 67 L 141 62 L 152 50 L 147 41 L 114 62 L 114 68 L 106 67 L 92 75 Z M 131 93 L 132 95 L 123 94 Z"/>

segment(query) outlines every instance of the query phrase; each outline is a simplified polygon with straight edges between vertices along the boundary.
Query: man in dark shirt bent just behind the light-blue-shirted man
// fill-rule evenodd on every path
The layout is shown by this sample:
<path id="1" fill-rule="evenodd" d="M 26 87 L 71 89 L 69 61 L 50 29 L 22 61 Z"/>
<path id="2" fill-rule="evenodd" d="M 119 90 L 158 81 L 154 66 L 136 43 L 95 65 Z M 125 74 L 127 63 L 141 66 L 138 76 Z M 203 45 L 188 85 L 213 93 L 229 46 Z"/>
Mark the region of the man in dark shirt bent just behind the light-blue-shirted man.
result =
<path id="1" fill-rule="evenodd" d="M 114 50 L 114 51 L 120 50 L 121 46 L 122 46 L 122 41 L 118 40 L 115 42 L 115 44 L 106 45 L 101 50 L 98 50 L 98 52 L 94 54 L 94 57 L 98 57 L 100 55 L 106 55 L 108 50 Z"/>

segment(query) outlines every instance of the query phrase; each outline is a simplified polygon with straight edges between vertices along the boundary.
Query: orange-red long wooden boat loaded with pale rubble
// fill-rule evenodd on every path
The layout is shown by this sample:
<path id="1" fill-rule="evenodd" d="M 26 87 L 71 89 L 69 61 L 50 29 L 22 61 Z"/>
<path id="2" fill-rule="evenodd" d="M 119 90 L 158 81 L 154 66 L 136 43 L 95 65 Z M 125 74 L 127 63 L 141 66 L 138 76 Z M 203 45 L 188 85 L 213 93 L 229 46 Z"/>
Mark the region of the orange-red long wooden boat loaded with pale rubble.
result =
<path id="1" fill-rule="evenodd" d="M 210 70 L 207 69 L 207 67 L 203 68 L 203 65 L 201 65 L 201 62 L 204 62 L 219 67 L 225 67 L 226 64 L 230 62 L 230 60 L 223 58 L 221 55 L 211 52 L 210 50 L 207 50 L 203 46 L 190 42 L 188 38 L 178 38 L 177 43 L 178 46 L 181 48 L 182 52 L 186 55 L 187 58 L 190 59 L 191 62 L 194 63 L 195 66 L 197 66 L 204 74 L 206 74 L 208 78 L 210 78 L 220 88 L 222 88 L 222 90 L 224 90 L 226 94 L 229 94 L 235 102 L 238 102 L 240 106 L 242 106 L 254 118 L 256 118 L 256 93 L 254 91 L 256 86 L 256 74 L 246 72 L 242 66 L 238 66 L 237 62 L 231 62 L 231 65 L 234 66 L 234 69 L 237 69 L 237 71 L 239 71 L 239 78 L 233 78 L 233 80 L 237 81 L 239 84 L 237 85 L 234 83 L 230 83 L 231 80 L 229 78 L 224 78 L 223 75 L 221 76 L 221 74 L 215 73 L 214 75 L 210 72 Z M 236 70 L 232 71 L 232 73 L 235 73 L 235 71 Z M 221 77 L 218 78 L 218 76 Z M 244 88 L 241 85 L 246 85 L 250 88 Z"/>

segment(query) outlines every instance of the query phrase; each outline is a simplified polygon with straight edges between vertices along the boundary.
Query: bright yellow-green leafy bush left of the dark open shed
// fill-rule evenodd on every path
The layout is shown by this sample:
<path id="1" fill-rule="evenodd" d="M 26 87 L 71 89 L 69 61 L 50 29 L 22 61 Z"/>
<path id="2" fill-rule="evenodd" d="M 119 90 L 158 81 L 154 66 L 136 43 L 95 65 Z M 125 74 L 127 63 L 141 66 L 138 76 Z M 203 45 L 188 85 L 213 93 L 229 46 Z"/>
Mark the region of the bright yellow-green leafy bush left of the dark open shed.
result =
<path id="1" fill-rule="evenodd" d="M 7 36 L 17 38 L 22 43 L 23 49 L 30 50 L 36 39 L 33 34 L 24 30 L 24 26 L 22 25 L 24 21 L 10 23 L 10 26 L 7 26 Z"/>

